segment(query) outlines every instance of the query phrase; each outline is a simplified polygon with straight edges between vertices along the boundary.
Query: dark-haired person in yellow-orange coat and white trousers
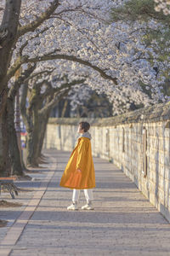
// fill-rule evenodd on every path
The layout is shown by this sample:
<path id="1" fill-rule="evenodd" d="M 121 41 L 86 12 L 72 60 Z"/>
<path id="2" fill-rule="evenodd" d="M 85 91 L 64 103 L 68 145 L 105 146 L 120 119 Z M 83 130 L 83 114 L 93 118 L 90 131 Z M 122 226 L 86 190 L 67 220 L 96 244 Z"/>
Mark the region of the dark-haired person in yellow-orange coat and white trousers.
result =
<path id="1" fill-rule="evenodd" d="M 94 210 L 92 201 L 94 200 L 95 173 L 89 128 L 88 122 L 79 123 L 77 132 L 80 133 L 80 137 L 59 183 L 61 187 L 73 189 L 72 204 L 67 207 L 67 210 L 78 210 L 80 189 L 83 189 L 87 200 L 82 210 Z"/>

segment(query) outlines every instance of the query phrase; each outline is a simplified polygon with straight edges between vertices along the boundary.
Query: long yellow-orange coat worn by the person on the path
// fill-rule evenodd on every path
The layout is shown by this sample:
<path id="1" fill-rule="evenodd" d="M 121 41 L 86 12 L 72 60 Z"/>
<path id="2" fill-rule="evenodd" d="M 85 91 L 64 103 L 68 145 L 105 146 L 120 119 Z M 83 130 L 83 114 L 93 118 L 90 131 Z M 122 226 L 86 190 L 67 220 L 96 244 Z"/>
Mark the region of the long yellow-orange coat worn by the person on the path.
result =
<path id="1" fill-rule="evenodd" d="M 82 172 L 78 172 L 77 169 Z M 93 189 L 95 187 L 94 161 L 88 137 L 78 139 L 59 185 L 70 189 Z"/>

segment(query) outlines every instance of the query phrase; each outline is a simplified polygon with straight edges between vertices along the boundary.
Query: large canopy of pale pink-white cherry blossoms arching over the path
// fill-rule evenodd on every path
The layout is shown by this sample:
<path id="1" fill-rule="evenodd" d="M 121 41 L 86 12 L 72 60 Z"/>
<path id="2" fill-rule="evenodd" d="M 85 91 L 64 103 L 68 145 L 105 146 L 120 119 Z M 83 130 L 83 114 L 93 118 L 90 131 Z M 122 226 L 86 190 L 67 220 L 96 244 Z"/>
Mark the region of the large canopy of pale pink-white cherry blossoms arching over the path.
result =
<path id="1" fill-rule="evenodd" d="M 140 6 L 140 2 L 146 3 L 142 0 L 136 4 Z M 147 106 L 168 100 L 162 93 L 167 60 L 159 60 L 154 45 L 157 42 L 144 41 L 146 31 L 161 31 L 163 26 L 154 18 L 153 1 L 152 16 L 143 22 L 134 19 L 142 12 L 141 7 L 135 15 L 134 1 L 131 5 L 111 0 L 32 3 L 23 1 L 21 5 L 8 79 L 20 66 L 41 61 L 38 71 L 50 65 L 61 75 L 67 73 L 70 79 L 86 76 L 92 89 L 108 96 L 114 113 L 127 111 L 133 102 Z M 133 12 L 133 20 L 112 20 L 113 9 L 121 17 L 120 6 L 126 8 L 126 4 Z"/>

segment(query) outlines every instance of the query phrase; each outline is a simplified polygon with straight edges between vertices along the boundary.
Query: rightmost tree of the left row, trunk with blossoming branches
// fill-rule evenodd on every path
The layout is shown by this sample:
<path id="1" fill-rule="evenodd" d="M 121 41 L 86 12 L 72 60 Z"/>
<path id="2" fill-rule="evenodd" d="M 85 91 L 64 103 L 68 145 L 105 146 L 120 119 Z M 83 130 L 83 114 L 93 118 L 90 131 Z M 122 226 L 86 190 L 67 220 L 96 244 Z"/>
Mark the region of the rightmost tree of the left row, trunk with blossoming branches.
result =
<path id="1" fill-rule="evenodd" d="M 51 110 L 63 96 L 68 94 L 72 86 L 85 82 L 85 79 L 69 81 L 66 75 L 62 78 L 56 76 L 55 80 L 53 78 L 51 81 L 49 73 L 51 71 L 30 76 L 22 85 L 21 113 L 27 131 L 27 166 L 39 164 L 43 137 Z"/>

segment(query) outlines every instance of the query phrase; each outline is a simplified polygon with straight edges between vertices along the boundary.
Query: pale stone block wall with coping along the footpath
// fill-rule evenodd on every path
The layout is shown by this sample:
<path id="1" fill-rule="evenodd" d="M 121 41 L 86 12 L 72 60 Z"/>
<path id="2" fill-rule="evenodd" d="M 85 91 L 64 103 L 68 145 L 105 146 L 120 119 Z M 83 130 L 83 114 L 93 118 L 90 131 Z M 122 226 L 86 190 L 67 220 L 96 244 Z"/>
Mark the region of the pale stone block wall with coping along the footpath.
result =
<path id="1" fill-rule="evenodd" d="M 45 148 L 71 151 L 91 124 L 94 156 L 112 161 L 170 222 L 170 102 L 107 119 L 50 119 Z"/>

